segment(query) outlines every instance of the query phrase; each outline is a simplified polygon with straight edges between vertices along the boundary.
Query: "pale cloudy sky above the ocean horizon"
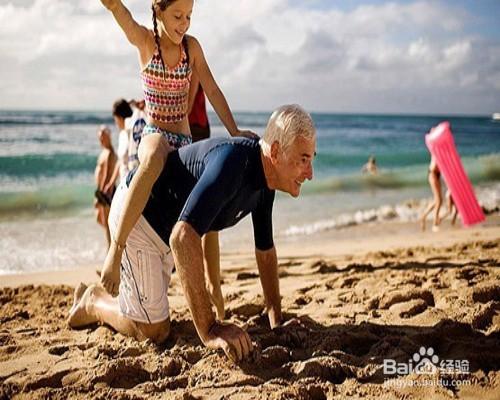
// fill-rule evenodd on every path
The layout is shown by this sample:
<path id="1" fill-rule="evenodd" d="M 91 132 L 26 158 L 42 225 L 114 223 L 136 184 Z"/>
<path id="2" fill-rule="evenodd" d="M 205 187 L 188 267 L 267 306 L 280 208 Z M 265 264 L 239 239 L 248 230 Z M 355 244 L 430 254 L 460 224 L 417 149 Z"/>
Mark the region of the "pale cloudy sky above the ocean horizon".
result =
<path id="1" fill-rule="evenodd" d="M 150 0 L 124 0 L 151 27 Z M 196 0 L 188 33 L 234 111 L 500 112 L 499 0 Z M 0 109 L 141 96 L 99 0 L 0 0 Z"/>

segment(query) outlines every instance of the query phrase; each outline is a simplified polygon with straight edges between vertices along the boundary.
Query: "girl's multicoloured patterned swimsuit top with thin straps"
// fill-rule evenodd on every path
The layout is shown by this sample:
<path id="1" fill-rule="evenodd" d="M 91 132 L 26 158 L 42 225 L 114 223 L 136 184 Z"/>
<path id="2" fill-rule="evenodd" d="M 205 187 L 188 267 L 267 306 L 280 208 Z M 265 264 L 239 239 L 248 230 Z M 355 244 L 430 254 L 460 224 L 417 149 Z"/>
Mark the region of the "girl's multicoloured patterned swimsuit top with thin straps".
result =
<path id="1" fill-rule="evenodd" d="M 180 52 L 181 57 L 177 65 L 170 68 L 165 63 L 163 70 L 157 48 L 141 72 L 146 113 L 153 124 L 175 123 L 186 118 L 192 71 L 184 41 L 180 45 Z"/>

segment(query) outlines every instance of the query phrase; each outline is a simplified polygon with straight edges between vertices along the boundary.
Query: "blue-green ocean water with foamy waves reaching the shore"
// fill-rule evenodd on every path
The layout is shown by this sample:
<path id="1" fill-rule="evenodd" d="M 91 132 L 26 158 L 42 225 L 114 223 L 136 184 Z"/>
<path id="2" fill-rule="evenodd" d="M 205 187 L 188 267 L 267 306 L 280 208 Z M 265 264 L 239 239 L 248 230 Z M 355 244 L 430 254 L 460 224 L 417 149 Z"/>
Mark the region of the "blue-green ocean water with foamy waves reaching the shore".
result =
<path id="1" fill-rule="evenodd" d="M 269 113 L 236 113 L 262 134 Z M 450 121 L 482 205 L 500 204 L 500 123 L 490 117 L 313 114 L 314 179 L 299 199 L 278 195 L 277 237 L 301 237 L 354 224 L 415 220 L 430 196 L 424 135 Z M 213 136 L 225 129 L 210 114 Z M 98 264 L 105 255 L 92 209 L 96 130 L 109 112 L 0 111 L 0 274 Z M 376 156 L 380 173 L 361 167 Z M 222 250 L 251 242 L 243 221 L 221 235 Z"/>

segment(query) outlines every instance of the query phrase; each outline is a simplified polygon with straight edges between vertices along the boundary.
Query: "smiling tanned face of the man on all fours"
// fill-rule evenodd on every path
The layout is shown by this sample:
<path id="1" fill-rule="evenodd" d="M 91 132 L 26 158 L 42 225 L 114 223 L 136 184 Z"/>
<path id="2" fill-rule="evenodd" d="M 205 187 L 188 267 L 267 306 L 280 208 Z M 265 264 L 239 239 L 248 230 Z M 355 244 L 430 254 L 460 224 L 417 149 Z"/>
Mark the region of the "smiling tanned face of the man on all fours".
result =
<path id="1" fill-rule="evenodd" d="M 300 194 L 300 187 L 306 179 L 313 178 L 312 162 L 316 155 L 316 138 L 298 136 L 285 150 L 276 142 L 275 168 L 276 189 L 290 193 L 293 197 Z"/>

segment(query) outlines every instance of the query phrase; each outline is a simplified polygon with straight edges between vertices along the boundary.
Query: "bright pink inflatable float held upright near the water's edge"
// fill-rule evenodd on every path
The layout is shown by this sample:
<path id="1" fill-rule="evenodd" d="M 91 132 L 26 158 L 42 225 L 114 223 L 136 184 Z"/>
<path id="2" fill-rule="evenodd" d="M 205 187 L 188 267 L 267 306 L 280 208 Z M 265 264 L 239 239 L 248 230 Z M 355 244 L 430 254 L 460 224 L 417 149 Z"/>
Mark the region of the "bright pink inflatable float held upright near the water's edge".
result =
<path id="1" fill-rule="evenodd" d="M 443 174 L 462 223 L 471 226 L 484 221 L 483 211 L 457 153 L 449 122 L 441 122 L 432 128 L 425 135 L 425 144 Z"/>

